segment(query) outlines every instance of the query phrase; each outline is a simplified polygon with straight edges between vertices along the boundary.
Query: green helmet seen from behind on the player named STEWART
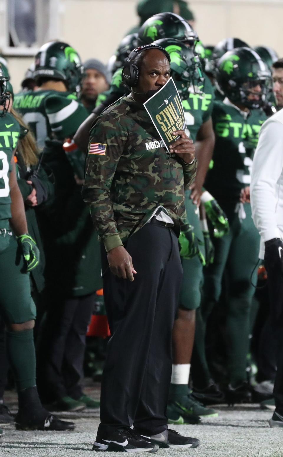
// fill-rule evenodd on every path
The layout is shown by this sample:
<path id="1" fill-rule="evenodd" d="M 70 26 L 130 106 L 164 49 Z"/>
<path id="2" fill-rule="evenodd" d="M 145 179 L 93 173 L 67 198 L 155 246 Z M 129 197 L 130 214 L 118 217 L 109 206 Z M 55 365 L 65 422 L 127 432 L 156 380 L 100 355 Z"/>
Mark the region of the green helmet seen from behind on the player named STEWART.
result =
<path id="1" fill-rule="evenodd" d="M 45 43 L 35 58 L 33 77 L 63 81 L 70 92 L 78 92 L 83 67 L 77 51 L 67 43 L 51 41 Z"/>

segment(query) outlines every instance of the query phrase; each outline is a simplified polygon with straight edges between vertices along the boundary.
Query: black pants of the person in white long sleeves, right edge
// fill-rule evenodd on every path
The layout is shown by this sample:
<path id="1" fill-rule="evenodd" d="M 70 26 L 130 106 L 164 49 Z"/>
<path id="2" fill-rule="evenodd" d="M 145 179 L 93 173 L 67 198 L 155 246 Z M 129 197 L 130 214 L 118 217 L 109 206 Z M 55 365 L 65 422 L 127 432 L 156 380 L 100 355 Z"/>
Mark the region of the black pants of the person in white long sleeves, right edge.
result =
<path id="1" fill-rule="evenodd" d="M 273 394 L 276 411 L 283 415 L 283 275 L 278 266 L 265 259 L 267 284 L 270 297 L 271 325 L 276 341 L 277 372 Z"/>

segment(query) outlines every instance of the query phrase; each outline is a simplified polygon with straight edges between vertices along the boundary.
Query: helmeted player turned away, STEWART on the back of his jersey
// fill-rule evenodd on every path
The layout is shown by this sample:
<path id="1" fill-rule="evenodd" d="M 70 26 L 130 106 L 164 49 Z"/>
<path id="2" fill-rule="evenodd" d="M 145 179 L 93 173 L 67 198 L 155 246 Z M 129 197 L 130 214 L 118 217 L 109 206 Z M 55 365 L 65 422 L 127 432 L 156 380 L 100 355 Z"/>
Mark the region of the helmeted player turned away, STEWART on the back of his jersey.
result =
<path id="1" fill-rule="evenodd" d="M 46 99 L 56 94 L 76 98 L 82 77 L 79 54 L 67 43 L 46 43 L 36 55 L 32 76 L 38 90 L 19 92 L 14 97 L 13 106 L 31 127 L 41 150 L 45 139 L 52 136 L 45 110 Z"/>

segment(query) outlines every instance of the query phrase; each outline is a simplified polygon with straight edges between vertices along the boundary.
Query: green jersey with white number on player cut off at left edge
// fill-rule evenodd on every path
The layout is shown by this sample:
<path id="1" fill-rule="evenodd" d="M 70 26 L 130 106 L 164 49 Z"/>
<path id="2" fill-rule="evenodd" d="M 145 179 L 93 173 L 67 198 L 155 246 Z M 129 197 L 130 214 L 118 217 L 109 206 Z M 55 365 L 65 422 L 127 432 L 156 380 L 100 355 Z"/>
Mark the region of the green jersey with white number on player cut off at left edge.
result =
<path id="1" fill-rule="evenodd" d="M 20 135 L 20 125 L 9 113 L 0 117 L 0 228 L 3 221 L 11 218 L 11 197 L 9 176 L 12 171 L 11 159 Z M 5 224 L 4 224 L 5 225 Z"/>

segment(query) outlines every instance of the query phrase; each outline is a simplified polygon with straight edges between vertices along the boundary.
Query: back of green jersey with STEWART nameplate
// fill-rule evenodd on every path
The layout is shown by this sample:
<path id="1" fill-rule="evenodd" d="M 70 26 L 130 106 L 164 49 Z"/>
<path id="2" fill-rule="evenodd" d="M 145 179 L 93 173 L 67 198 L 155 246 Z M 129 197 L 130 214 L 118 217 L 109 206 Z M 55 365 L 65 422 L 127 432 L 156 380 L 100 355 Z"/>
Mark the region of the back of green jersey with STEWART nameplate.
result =
<path id="1" fill-rule="evenodd" d="M 70 92 L 58 92 L 57 90 L 27 90 L 15 95 L 13 108 L 23 117 L 30 126 L 37 139 L 37 146 L 43 149 L 44 141 L 51 136 L 51 127 L 45 112 L 45 102 L 48 96 L 58 95 L 61 97 L 75 98 Z"/>

